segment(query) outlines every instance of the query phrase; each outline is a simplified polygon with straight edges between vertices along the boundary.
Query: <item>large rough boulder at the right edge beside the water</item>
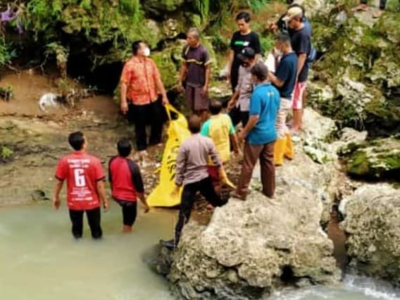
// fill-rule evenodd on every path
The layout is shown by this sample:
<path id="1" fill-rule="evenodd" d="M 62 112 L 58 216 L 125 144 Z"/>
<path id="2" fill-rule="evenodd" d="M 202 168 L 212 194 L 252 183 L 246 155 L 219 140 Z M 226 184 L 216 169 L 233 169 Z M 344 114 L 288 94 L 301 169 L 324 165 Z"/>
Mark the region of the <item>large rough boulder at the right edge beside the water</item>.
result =
<path id="1" fill-rule="evenodd" d="M 351 266 L 400 285 L 400 189 L 365 185 L 341 206 Z"/>

